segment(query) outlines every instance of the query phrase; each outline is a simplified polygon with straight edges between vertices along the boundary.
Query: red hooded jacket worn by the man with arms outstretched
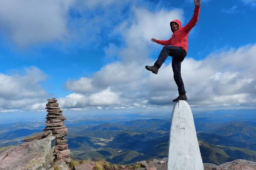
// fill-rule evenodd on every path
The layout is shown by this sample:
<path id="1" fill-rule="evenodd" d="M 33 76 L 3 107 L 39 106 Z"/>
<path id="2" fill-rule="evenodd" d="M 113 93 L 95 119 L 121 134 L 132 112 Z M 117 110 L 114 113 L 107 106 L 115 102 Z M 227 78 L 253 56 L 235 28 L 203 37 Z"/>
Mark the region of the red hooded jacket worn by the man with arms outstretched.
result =
<path id="1" fill-rule="evenodd" d="M 188 51 L 188 33 L 194 27 L 194 25 L 196 25 L 196 22 L 198 21 L 199 11 L 200 11 L 200 6 L 196 6 L 194 8 L 193 17 L 191 18 L 190 22 L 188 22 L 188 24 L 185 25 L 185 27 L 181 26 L 180 20 L 178 19 L 173 20 L 172 22 L 176 22 L 179 25 L 178 30 L 176 31 L 173 31 L 172 22 L 170 22 L 170 26 L 173 32 L 172 37 L 169 40 L 157 40 L 157 43 L 164 46 L 169 46 L 169 45 L 178 46 L 185 49 L 185 51 L 187 52 Z"/>

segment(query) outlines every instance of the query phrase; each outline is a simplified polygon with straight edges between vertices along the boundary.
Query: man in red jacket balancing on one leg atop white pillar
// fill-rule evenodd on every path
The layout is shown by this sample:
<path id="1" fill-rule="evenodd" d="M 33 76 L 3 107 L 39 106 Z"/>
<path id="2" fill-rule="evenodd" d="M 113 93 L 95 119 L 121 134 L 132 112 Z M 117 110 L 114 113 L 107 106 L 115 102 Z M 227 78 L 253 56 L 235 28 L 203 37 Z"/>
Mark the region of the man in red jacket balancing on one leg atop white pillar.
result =
<path id="1" fill-rule="evenodd" d="M 184 27 L 181 27 L 180 20 L 176 19 L 170 22 L 170 27 L 173 32 L 172 37 L 169 40 L 157 40 L 156 38 L 151 38 L 151 41 L 164 45 L 164 48 L 160 52 L 158 59 L 153 66 L 146 65 L 146 69 L 152 71 L 152 73 L 157 74 L 159 68 L 164 63 L 168 56 L 172 57 L 172 70 L 174 81 L 178 86 L 179 96 L 173 100 L 173 102 L 178 102 L 179 100 L 188 100 L 186 97 L 186 91 L 181 78 L 181 62 L 185 59 L 188 50 L 188 33 L 196 25 L 198 21 L 199 11 L 200 11 L 200 0 L 194 0 L 195 9 L 194 14 L 190 22 Z"/>

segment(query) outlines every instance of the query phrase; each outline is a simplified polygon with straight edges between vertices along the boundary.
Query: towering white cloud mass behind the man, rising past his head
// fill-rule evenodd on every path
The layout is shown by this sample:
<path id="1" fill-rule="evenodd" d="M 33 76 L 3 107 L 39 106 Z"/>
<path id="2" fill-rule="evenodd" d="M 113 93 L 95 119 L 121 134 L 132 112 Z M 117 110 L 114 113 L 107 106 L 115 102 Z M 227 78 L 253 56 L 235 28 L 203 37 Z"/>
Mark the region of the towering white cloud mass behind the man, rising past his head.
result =
<path id="1" fill-rule="evenodd" d="M 105 48 L 106 54 L 110 56 L 116 55 L 119 50 L 118 57 L 121 61 L 105 65 L 91 78 L 68 82 L 70 87 L 76 87 L 73 89 L 75 93 L 87 95 L 86 100 L 83 99 L 86 102 L 83 104 L 78 102 L 73 107 L 154 108 L 159 105 L 168 106 L 177 97 L 177 86 L 173 80 L 171 64 L 164 64 L 158 75 L 147 71 L 144 65 L 154 63 L 148 59 L 148 54 L 156 46 L 160 47 L 159 44 L 151 43 L 150 39 L 152 37 L 169 39 L 171 36 L 169 21 L 182 20 L 183 11 L 174 9 L 151 12 L 145 8 L 134 7 L 133 12 L 132 20 L 123 21 L 111 33 L 123 37 L 125 48 L 117 48 L 115 44 Z M 182 63 L 182 77 L 190 104 L 192 106 L 252 105 L 252 101 L 256 99 L 256 87 L 253 85 L 256 77 L 252 74 L 253 65 L 256 64 L 256 59 L 253 57 L 255 52 L 256 45 L 253 45 L 215 52 L 199 61 L 186 58 Z M 244 62 L 245 56 L 247 62 Z M 167 60 L 170 59 L 169 57 Z M 79 84 L 83 79 L 89 81 Z M 94 90 L 84 91 L 86 87 L 82 84 L 93 87 Z M 114 100 L 109 94 L 111 103 L 109 105 L 105 103 L 107 95 L 99 95 L 106 89 L 111 89 L 115 94 Z M 104 97 L 100 100 L 98 96 Z M 90 100 L 93 102 L 90 103 Z M 116 102 L 117 100 L 120 102 Z"/>

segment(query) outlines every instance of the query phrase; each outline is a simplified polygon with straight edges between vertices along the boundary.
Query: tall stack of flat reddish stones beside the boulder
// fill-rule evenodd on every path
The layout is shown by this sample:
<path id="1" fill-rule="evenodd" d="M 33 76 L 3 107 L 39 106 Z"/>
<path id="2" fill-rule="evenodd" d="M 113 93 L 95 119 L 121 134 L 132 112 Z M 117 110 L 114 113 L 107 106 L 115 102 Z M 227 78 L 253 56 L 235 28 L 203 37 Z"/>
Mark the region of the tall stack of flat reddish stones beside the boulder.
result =
<path id="1" fill-rule="evenodd" d="M 70 163 L 70 150 L 68 149 L 68 144 L 65 139 L 65 136 L 68 134 L 68 128 L 66 128 L 64 124 L 64 120 L 66 120 L 65 116 L 62 116 L 62 110 L 59 107 L 58 100 L 55 98 L 47 99 L 48 103 L 46 104 L 46 108 L 48 114 L 46 115 L 47 119 L 45 121 L 46 127 L 44 131 L 51 130 L 53 136 L 56 137 L 56 145 L 54 149 L 55 159 L 53 162 L 58 160 L 64 160 L 64 162 L 69 166 Z"/>

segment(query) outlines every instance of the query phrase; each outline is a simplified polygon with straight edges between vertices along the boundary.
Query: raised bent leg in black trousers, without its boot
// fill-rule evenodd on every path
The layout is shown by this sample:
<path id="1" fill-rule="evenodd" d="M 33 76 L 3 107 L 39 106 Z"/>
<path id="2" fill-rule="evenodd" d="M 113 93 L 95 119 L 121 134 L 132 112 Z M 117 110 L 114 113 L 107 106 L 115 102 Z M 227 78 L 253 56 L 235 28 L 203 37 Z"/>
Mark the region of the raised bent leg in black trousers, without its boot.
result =
<path id="1" fill-rule="evenodd" d="M 186 57 L 186 51 L 181 47 L 164 46 L 154 65 L 160 68 L 168 56 L 172 56 L 172 58 L 176 60 L 183 61 L 184 58 Z"/>

